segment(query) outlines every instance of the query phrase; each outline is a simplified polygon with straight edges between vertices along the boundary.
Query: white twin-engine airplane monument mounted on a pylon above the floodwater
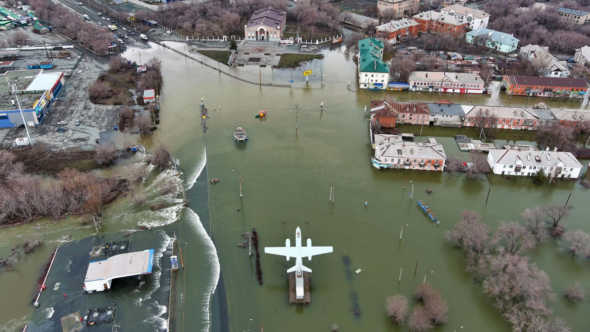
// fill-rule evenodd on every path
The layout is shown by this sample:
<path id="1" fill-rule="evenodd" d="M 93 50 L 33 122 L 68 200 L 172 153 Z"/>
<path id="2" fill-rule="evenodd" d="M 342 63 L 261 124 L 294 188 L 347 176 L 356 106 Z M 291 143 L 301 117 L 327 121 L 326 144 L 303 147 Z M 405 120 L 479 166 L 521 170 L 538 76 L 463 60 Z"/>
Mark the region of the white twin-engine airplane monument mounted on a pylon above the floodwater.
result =
<path id="1" fill-rule="evenodd" d="M 301 229 L 297 226 L 295 231 L 295 246 L 291 247 L 291 240 L 285 240 L 284 247 L 266 247 L 264 248 L 265 253 L 272 253 L 273 255 L 285 256 L 287 261 L 291 257 L 295 258 L 295 266 L 287 270 L 289 272 L 295 272 L 295 285 L 296 285 L 296 298 L 303 298 L 303 271 L 312 272 L 312 269 L 307 268 L 303 265 L 303 257 L 307 256 L 309 261 L 312 260 L 312 256 L 321 255 L 322 253 L 332 252 L 332 247 L 314 247 L 312 246 L 312 239 L 307 239 L 307 246 L 301 246 Z"/>

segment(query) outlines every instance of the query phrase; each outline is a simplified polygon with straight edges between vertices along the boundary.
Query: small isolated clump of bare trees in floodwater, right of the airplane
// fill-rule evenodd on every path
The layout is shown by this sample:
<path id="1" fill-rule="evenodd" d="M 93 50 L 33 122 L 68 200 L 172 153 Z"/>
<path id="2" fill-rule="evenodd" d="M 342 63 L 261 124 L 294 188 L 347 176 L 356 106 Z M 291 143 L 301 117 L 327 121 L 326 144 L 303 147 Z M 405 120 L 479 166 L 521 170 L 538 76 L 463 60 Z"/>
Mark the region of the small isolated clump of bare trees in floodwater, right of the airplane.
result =
<path id="1" fill-rule="evenodd" d="M 448 305 L 438 289 L 428 282 L 416 285 L 414 299 L 420 301 L 408 317 L 408 299 L 404 295 L 394 295 L 385 301 L 385 311 L 399 326 L 408 325 L 412 332 L 425 332 L 438 324 L 447 323 Z"/>

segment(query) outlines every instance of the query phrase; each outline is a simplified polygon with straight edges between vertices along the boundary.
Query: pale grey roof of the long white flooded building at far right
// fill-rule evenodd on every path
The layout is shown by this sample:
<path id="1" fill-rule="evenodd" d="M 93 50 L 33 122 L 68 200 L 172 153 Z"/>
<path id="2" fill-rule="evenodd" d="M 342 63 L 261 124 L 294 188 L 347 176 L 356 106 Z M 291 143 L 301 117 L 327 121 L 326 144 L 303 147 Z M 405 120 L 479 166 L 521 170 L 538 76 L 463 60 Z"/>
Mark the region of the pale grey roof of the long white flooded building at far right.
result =
<path id="1" fill-rule="evenodd" d="M 491 149 L 490 154 L 497 164 L 542 167 L 582 167 L 571 152 L 526 151 L 513 149 Z"/>

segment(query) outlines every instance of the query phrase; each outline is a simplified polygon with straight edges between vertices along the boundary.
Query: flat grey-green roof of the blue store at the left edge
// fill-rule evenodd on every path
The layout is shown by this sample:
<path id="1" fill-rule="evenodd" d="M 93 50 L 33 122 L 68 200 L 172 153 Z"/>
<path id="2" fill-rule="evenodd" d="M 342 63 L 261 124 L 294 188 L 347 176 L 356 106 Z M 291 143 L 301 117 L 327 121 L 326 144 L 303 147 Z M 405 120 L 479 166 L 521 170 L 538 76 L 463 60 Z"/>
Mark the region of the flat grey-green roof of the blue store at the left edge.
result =
<path id="1" fill-rule="evenodd" d="M 14 110 L 18 109 L 17 104 L 12 104 L 14 98 L 10 93 L 10 87 L 6 83 L 6 77 L 11 84 L 17 84 L 17 90 L 20 90 L 18 98 L 21 101 L 23 109 L 31 109 L 37 103 L 37 100 L 44 95 L 45 90 L 35 92 L 24 92 L 35 80 L 38 74 L 42 73 L 42 69 L 36 70 L 13 70 L 6 71 L 4 74 L 0 74 L 0 110 Z M 55 83 L 55 82 L 54 82 Z M 52 86 L 53 87 L 53 84 Z M 50 88 L 51 88 L 50 87 Z"/>

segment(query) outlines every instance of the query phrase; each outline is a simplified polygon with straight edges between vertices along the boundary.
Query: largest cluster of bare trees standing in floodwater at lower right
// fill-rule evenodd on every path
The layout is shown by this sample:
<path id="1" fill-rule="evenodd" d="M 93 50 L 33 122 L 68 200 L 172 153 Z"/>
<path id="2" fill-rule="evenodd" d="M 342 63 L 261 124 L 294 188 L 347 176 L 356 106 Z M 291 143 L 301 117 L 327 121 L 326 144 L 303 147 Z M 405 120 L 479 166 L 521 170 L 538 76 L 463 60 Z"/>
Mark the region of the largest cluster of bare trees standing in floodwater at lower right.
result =
<path id="1" fill-rule="evenodd" d="M 522 214 L 524 224 L 501 222 L 493 235 L 476 211 L 466 210 L 454 229 L 445 232 L 447 240 L 465 250 L 466 271 L 473 273 L 474 281 L 483 285 L 484 294 L 495 300 L 513 331 L 570 331 L 565 321 L 550 317 L 553 311 L 548 301 L 555 300 L 555 294 L 549 276 L 522 255 L 548 239 L 545 219 L 549 219 L 554 235 L 556 229 L 563 230 L 559 223 L 569 216 L 570 209 L 563 205 L 526 209 Z M 576 235 L 579 237 L 579 233 Z M 579 288 L 573 286 L 569 292 L 564 291 L 566 297 L 579 296 Z"/>

